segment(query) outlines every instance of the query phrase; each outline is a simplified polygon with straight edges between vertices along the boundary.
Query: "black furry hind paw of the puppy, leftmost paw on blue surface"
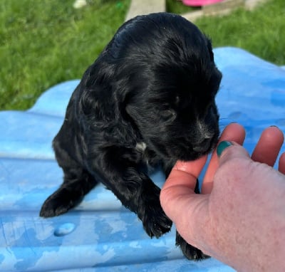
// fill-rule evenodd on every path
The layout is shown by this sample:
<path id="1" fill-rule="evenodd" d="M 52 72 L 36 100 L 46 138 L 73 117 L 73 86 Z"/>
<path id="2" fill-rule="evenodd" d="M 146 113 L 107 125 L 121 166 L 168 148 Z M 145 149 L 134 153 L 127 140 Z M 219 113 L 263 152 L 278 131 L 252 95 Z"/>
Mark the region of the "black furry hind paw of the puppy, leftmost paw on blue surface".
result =
<path id="1" fill-rule="evenodd" d="M 40 216 L 58 216 L 76 206 L 79 202 L 78 197 L 75 198 L 66 191 L 66 189 L 58 189 L 51 194 L 51 196 L 43 203 L 43 206 L 41 206 Z"/>

